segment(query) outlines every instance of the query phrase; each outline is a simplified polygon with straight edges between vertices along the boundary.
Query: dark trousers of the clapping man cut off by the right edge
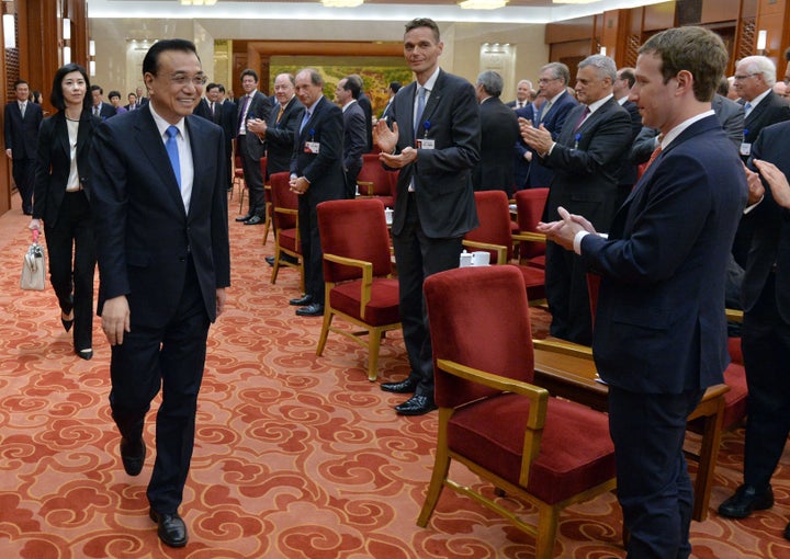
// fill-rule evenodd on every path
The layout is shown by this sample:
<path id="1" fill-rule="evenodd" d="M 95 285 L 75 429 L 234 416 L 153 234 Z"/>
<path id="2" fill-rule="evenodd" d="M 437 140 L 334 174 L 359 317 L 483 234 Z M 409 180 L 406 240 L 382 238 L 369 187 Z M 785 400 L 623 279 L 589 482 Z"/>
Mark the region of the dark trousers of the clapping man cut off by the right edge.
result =
<path id="1" fill-rule="evenodd" d="M 743 322 L 748 386 L 744 482 L 767 488 L 790 433 L 790 324 L 777 311 L 771 273 Z"/>

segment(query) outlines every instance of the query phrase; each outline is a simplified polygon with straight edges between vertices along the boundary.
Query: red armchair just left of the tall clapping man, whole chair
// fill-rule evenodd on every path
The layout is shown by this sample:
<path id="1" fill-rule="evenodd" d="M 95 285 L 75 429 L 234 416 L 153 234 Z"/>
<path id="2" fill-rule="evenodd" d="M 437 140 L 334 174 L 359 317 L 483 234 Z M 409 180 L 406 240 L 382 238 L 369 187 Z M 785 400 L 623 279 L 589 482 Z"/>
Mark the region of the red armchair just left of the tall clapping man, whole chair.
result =
<path id="1" fill-rule="evenodd" d="M 329 331 L 369 350 L 368 379 L 376 379 L 381 339 L 400 328 L 398 284 L 392 278 L 390 233 L 384 205 L 375 198 L 336 199 L 318 204 L 324 251 L 326 300 L 316 355 L 324 353 Z M 334 317 L 363 329 L 331 327 Z M 368 343 L 360 334 L 368 334 Z"/>

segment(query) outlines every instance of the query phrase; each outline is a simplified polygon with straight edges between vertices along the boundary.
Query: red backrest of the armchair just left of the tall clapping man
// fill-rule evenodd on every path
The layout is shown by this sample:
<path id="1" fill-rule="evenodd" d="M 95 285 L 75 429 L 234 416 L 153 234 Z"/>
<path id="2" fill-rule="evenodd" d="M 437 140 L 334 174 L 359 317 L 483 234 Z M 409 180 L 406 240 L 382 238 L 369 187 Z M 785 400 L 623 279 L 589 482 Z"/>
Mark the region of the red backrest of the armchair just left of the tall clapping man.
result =
<path id="1" fill-rule="evenodd" d="M 373 264 L 373 276 L 392 273 L 390 232 L 384 204 L 375 198 L 331 199 L 318 204 L 318 232 L 325 254 Z M 324 280 L 343 282 L 361 276 L 361 270 L 324 260 Z"/>

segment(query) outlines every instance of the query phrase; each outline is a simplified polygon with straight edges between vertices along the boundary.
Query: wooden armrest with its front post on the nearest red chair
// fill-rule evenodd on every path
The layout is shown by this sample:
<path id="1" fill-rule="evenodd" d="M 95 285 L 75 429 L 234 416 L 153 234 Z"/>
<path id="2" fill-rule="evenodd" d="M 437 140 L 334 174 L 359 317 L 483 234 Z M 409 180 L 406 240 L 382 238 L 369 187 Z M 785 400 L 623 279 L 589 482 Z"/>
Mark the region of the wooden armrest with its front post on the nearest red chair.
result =
<path id="1" fill-rule="evenodd" d="M 530 412 L 527 418 L 524 431 L 523 458 L 521 460 L 521 474 L 519 483 L 527 487 L 532 460 L 540 453 L 541 436 L 545 425 L 546 410 L 549 408 L 549 391 L 545 388 L 522 383 L 512 378 L 500 377 L 473 367 L 467 367 L 449 360 L 438 360 L 437 366 L 450 375 L 465 380 L 477 383 L 495 390 L 518 393 L 530 399 Z"/>

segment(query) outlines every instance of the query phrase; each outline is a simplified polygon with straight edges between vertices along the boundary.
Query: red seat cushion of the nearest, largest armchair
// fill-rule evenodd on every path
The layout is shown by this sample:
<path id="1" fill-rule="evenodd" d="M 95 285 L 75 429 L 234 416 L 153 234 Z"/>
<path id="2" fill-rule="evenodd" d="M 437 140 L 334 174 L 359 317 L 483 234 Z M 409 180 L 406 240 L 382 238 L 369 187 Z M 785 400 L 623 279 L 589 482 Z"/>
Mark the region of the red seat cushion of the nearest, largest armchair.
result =
<path id="1" fill-rule="evenodd" d="M 519 484 L 530 401 L 506 393 L 467 404 L 448 424 L 448 446 Z M 549 398 L 541 450 L 527 491 L 553 504 L 614 477 L 607 417 L 576 402 Z"/>

